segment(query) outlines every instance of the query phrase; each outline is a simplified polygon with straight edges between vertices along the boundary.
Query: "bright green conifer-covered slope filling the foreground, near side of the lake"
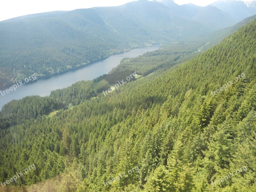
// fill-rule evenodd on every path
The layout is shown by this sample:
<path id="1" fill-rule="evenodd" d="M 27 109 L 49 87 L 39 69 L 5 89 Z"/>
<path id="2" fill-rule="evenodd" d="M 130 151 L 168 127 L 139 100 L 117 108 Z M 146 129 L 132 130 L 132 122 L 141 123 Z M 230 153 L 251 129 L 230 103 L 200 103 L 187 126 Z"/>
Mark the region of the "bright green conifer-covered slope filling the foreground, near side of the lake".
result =
<path id="1" fill-rule="evenodd" d="M 35 164 L 17 185 L 60 174 L 45 183 L 45 191 L 255 191 L 255 28 L 253 20 L 180 65 L 165 47 L 123 60 L 112 74 L 126 75 L 130 66 L 147 75 L 149 58 L 159 68 L 106 96 L 101 91 L 110 86 L 111 74 L 109 82 L 99 78 L 53 92 L 56 100 L 72 103 L 68 110 L 31 116 L 1 132 L 0 180 Z M 191 50 L 176 56 L 185 58 Z M 92 83 L 91 90 L 83 88 Z M 94 90 L 99 94 L 83 98 Z M 139 171 L 128 174 L 135 167 Z M 122 173 L 118 182 L 108 182 Z"/>

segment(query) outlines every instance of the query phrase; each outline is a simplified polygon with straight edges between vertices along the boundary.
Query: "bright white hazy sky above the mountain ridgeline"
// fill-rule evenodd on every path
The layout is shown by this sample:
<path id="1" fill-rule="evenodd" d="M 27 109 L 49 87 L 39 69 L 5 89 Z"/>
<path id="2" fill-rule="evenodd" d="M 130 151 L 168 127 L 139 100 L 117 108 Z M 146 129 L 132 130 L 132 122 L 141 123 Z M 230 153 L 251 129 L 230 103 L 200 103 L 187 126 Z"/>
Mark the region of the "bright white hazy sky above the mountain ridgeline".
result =
<path id="1" fill-rule="evenodd" d="M 32 13 L 118 6 L 131 1 L 133 0 L 2 0 L 0 3 L 0 21 Z M 216 0 L 174 0 L 177 4 L 193 3 L 201 6 L 211 4 L 214 1 Z"/>

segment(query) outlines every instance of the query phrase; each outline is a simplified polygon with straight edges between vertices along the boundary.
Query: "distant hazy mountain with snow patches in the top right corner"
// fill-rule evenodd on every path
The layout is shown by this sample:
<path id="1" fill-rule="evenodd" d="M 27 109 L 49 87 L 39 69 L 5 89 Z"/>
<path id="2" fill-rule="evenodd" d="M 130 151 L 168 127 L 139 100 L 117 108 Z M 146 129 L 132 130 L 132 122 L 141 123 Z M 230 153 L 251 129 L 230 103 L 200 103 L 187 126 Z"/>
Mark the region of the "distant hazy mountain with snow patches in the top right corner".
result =
<path id="1" fill-rule="evenodd" d="M 222 0 L 212 3 L 214 7 L 229 13 L 236 21 L 256 14 L 256 1 L 244 2 L 240 0 Z"/>

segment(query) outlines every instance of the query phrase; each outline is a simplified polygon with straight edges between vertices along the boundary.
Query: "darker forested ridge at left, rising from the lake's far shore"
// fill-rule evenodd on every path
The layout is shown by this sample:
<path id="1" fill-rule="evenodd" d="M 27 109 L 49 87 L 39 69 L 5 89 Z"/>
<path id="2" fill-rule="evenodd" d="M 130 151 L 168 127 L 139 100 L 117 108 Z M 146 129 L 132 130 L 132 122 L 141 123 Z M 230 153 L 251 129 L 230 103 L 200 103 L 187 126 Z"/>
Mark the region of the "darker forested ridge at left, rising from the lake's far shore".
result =
<path id="1" fill-rule="evenodd" d="M 145 45 L 109 28 L 94 9 L 0 22 L 0 44 L 0 86 L 34 72 L 50 76 Z"/>

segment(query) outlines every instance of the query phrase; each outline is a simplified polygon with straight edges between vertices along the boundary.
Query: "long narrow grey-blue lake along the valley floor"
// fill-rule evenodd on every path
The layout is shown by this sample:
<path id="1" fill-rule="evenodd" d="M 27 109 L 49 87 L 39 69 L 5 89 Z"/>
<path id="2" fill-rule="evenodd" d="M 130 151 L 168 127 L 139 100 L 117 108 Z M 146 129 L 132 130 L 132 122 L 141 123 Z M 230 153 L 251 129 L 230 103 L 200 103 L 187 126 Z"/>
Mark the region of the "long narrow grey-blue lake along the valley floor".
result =
<path id="1" fill-rule="evenodd" d="M 120 64 L 120 61 L 123 58 L 138 57 L 146 52 L 155 51 L 159 47 L 160 45 L 154 45 L 152 47 L 133 49 L 129 52 L 112 55 L 105 60 L 91 63 L 85 67 L 53 75 L 49 78 L 39 79 L 34 83 L 22 85 L 17 88 L 16 91 L 9 92 L 4 96 L 0 94 L 0 109 L 11 100 L 22 99 L 23 97 L 30 95 L 39 95 L 41 97 L 47 96 L 50 95 L 53 90 L 68 87 L 78 81 L 92 80 L 103 74 L 108 74 L 112 68 Z M 24 80 L 22 82 L 24 82 Z M 2 88 L 2 90 L 4 90 L 4 88 Z"/>

